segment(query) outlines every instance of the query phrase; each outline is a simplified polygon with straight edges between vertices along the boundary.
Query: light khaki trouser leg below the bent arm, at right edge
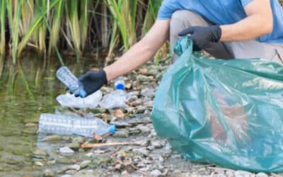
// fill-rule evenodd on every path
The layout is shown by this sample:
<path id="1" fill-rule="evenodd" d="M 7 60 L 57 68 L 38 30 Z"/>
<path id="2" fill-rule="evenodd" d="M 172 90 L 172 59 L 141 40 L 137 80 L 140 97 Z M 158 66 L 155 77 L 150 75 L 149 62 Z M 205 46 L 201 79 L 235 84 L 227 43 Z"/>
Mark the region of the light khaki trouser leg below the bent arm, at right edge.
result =
<path id="1" fill-rule="evenodd" d="M 283 65 L 283 45 L 262 43 L 256 40 L 224 42 L 232 58 L 263 58 Z"/>

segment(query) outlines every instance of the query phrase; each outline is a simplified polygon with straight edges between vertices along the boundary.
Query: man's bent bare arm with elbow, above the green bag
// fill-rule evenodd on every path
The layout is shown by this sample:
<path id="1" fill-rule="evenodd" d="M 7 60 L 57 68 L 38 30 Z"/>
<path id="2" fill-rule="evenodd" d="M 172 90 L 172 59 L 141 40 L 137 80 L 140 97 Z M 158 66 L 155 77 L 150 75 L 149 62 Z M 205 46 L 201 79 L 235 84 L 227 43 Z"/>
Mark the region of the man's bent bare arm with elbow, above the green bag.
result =
<path id="1" fill-rule="evenodd" d="M 270 0 L 254 0 L 245 6 L 247 18 L 231 25 L 221 25 L 220 41 L 253 40 L 272 32 Z"/>

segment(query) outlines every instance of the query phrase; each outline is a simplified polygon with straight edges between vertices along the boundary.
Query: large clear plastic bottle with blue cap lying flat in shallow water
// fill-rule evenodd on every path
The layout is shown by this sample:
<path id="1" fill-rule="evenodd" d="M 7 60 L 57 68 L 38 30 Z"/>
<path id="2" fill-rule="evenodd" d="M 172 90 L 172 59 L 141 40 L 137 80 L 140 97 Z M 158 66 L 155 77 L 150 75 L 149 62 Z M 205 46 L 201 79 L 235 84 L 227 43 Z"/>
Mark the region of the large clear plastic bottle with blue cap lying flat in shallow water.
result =
<path id="1" fill-rule="evenodd" d="M 82 118 L 79 116 L 44 113 L 40 115 L 40 133 L 55 135 L 81 135 L 93 137 L 93 134 L 104 135 L 115 133 L 115 125 L 108 125 L 99 118 Z"/>

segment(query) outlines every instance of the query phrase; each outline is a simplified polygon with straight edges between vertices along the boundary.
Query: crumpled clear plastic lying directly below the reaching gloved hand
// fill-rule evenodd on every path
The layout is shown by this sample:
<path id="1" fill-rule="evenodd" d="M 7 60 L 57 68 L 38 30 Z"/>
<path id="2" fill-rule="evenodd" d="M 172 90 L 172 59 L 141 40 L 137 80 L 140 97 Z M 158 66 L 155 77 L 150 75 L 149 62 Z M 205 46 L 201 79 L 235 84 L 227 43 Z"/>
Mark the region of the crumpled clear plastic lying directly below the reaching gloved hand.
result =
<path id="1" fill-rule="evenodd" d="M 60 105 L 71 108 L 96 108 L 102 98 L 101 91 L 96 91 L 86 98 L 75 97 L 74 94 L 66 93 L 57 96 Z"/>

